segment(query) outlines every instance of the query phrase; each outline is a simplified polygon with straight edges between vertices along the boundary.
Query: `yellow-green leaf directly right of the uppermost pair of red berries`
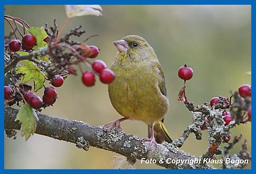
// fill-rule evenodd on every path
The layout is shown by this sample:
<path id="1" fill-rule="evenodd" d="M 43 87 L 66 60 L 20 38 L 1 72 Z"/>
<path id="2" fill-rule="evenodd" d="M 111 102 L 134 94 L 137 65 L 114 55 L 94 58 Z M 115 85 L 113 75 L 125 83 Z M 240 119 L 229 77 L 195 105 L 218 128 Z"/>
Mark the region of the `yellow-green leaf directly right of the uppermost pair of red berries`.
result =
<path id="1" fill-rule="evenodd" d="M 36 45 L 33 47 L 35 51 L 39 50 L 41 47 L 48 46 L 46 42 L 44 42 L 44 38 L 48 36 L 48 34 L 45 32 L 44 27 L 30 27 L 26 30 L 27 33 L 32 34 L 36 38 Z M 37 57 L 39 60 L 43 61 L 49 61 L 49 56 L 45 55 L 42 57 Z"/>

